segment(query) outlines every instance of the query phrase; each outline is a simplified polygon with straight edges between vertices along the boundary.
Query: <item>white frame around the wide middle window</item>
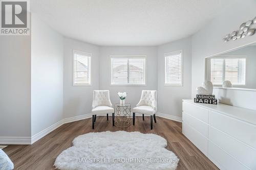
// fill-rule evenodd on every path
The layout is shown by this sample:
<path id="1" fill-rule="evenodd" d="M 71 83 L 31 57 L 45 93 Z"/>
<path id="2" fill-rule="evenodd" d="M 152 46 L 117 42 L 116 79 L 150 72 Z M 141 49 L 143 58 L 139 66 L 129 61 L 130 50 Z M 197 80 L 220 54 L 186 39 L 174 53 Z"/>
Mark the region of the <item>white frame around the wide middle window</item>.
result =
<path id="1" fill-rule="evenodd" d="M 144 65 L 144 84 L 112 84 L 112 65 L 111 65 L 111 58 L 144 58 L 145 59 L 145 65 Z M 110 86 L 147 86 L 147 59 L 146 55 L 110 55 Z"/>

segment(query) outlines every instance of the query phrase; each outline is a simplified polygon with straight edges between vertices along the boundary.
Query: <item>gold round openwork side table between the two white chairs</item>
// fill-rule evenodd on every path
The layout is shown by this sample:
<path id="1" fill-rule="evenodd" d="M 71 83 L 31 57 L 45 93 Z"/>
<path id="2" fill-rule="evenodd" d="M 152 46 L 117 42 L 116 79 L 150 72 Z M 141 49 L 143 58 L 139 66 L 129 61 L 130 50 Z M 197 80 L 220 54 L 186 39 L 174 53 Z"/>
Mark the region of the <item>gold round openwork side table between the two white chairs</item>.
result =
<path id="1" fill-rule="evenodd" d="M 131 104 L 115 103 L 115 126 L 126 128 L 131 125 Z"/>

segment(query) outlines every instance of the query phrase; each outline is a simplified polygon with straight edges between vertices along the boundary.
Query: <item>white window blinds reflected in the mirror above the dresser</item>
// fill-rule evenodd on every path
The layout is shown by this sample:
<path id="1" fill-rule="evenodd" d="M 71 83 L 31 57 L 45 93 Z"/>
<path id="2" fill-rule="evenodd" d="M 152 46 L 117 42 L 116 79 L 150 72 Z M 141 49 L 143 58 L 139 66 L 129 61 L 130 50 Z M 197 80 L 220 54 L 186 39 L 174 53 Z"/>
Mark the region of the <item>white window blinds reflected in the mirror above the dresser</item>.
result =
<path id="1" fill-rule="evenodd" d="M 230 81 L 233 85 L 245 85 L 245 58 L 211 58 L 210 80 L 214 85 Z"/>

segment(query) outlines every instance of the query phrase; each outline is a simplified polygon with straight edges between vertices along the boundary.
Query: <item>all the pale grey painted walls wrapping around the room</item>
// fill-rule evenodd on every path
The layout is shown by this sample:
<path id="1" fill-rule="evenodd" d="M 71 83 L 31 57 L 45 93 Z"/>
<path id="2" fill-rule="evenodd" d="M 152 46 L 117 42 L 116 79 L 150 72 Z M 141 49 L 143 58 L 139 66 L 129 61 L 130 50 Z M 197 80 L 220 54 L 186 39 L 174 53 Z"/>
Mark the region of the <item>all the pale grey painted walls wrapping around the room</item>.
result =
<path id="1" fill-rule="evenodd" d="M 204 81 L 204 58 L 256 42 L 256 35 L 222 41 L 224 35 L 255 16 L 255 7 L 253 0 L 230 5 L 192 38 L 158 47 L 99 47 L 62 38 L 32 15 L 32 37 L 0 37 L 0 139 L 29 138 L 62 118 L 91 113 L 94 89 L 109 89 L 113 104 L 119 102 L 117 92 L 126 91 L 132 107 L 141 90 L 157 89 L 158 111 L 181 117 L 181 99 L 194 98 L 196 87 Z M 72 85 L 74 49 L 93 54 L 91 86 Z M 183 50 L 183 86 L 164 86 L 163 55 L 177 50 Z M 146 55 L 146 86 L 111 86 L 110 55 Z M 223 103 L 256 110 L 251 102 L 256 91 L 215 89 L 214 93 Z"/>

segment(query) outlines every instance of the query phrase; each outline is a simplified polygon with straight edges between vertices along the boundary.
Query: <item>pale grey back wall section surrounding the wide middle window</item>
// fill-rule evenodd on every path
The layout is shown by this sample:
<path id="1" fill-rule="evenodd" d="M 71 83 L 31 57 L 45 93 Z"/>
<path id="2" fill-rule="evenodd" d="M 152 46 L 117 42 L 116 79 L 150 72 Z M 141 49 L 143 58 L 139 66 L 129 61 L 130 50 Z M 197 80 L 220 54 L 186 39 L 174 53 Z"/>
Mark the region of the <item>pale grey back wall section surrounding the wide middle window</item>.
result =
<path id="1" fill-rule="evenodd" d="M 146 86 L 111 86 L 110 55 L 146 55 Z M 110 90 L 112 104 L 119 102 L 118 91 L 126 91 L 126 102 L 136 107 L 141 90 L 157 90 L 157 47 L 156 46 L 102 46 L 99 58 L 99 88 Z"/>

